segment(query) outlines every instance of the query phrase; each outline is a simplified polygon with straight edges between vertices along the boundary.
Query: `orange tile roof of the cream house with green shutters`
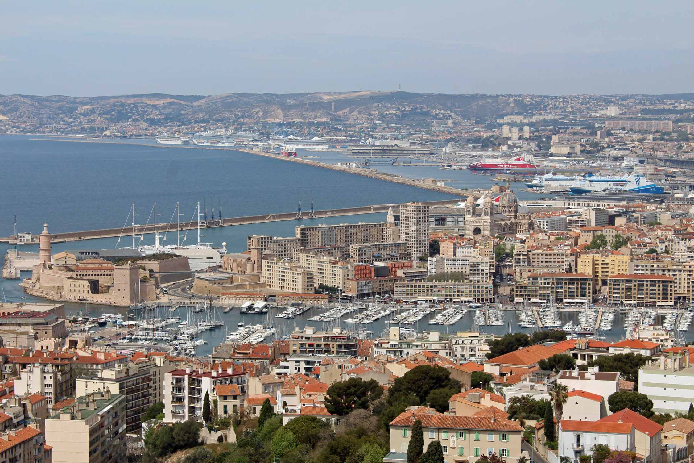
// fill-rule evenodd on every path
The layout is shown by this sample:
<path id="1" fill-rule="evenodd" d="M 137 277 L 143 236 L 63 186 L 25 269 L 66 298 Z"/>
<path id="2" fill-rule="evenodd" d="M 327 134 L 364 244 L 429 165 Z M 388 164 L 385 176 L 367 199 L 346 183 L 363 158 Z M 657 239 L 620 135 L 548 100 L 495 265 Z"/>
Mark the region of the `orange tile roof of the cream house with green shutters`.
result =
<path id="1" fill-rule="evenodd" d="M 421 409 L 405 410 L 390 422 L 391 426 L 412 426 L 416 420 L 427 428 L 456 428 L 480 430 L 522 431 L 517 421 L 493 416 L 452 416 L 439 412 L 423 412 Z"/>

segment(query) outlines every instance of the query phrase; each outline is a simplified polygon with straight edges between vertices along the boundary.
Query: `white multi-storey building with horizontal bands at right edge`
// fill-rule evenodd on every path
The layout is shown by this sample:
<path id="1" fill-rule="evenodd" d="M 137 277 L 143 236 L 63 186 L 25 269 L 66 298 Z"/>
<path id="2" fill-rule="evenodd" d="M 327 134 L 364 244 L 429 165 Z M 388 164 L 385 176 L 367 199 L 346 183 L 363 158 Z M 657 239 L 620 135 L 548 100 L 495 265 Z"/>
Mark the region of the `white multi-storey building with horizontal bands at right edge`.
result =
<path id="1" fill-rule="evenodd" d="M 638 392 L 653 401 L 656 413 L 686 414 L 692 403 L 693 381 L 694 365 L 687 349 L 661 353 L 659 360 L 648 361 L 638 370 Z"/>

